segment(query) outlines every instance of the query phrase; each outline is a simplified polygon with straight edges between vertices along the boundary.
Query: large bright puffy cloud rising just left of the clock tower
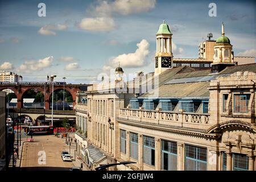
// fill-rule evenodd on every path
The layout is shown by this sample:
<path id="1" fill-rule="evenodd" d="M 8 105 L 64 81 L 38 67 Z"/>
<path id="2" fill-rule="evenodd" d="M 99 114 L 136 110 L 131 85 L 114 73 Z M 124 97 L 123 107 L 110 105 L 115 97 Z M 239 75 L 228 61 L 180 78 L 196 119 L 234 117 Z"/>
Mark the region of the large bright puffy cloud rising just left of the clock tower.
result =
<path id="1" fill-rule="evenodd" d="M 124 53 L 110 59 L 107 65 L 104 65 L 103 71 L 109 71 L 111 68 L 115 68 L 120 63 L 121 67 L 126 68 L 138 68 L 143 67 L 146 64 L 146 58 L 150 53 L 148 51 L 149 43 L 143 39 L 137 44 L 137 49 L 133 53 Z"/>

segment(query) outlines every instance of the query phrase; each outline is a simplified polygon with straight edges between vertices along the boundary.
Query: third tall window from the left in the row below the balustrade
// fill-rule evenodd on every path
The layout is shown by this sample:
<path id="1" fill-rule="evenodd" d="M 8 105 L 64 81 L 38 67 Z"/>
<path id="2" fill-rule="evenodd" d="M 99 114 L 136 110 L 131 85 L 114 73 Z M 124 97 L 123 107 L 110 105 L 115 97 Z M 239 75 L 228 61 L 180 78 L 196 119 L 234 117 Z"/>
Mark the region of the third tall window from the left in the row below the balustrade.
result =
<path id="1" fill-rule="evenodd" d="M 155 139 L 143 136 L 143 162 L 155 166 Z"/>

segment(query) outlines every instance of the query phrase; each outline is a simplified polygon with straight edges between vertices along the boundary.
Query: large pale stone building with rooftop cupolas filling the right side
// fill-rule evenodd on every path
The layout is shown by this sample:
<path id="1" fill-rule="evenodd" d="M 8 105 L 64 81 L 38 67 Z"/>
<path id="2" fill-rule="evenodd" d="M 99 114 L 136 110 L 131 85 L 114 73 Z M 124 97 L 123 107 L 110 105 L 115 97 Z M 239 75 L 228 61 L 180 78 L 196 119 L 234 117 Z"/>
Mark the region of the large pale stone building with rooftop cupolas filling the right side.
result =
<path id="1" fill-rule="evenodd" d="M 138 84 L 119 75 L 77 94 L 76 122 L 86 135 L 76 138 L 88 167 L 131 161 L 109 170 L 255 170 L 256 64 L 235 65 L 223 36 L 222 26 L 214 48 L 224 44 L 229 59 L 219 57 L 214 68 L 173 68 L 172 59 L 157 55 L 155 72 Z M 162 42 L 158 50 L 171 47 Z"/>

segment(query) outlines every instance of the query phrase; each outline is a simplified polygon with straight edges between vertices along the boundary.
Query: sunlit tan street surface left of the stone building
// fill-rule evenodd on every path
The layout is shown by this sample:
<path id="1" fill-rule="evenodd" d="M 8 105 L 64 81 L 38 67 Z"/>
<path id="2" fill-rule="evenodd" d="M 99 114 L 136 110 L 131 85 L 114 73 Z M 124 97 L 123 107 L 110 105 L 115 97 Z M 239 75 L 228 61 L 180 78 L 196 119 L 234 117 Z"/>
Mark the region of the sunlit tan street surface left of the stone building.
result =
<path id="1" fill-rule="evenodd" d="M 69 151 L 69 146 L 65 144 L 65 138 L 57 138 L 55 135 L 38 135 L 33 136 L 33 138 L 34 142 L 23 143 L 20 170 L 63 171 L 69 170 L 72 166 L 80 167 L 80 163 L 63 162 L 61 159 L 61 151 Z M 74 143 L 71 149 L 72 151 L 75 150 Z M 73 152 L 71 155 L 73 156 Z"/>

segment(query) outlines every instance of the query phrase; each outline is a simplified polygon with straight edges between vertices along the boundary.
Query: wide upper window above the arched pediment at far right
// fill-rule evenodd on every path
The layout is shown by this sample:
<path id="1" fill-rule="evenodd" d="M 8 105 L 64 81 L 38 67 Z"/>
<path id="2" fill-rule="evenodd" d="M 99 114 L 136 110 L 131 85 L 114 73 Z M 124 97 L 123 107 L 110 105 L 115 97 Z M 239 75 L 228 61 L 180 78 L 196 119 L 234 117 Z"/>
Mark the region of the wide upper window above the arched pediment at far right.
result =
<path id="1" fill-rule="evenodd" d="M 250 94 L 235 94 L 234 95 L 234 111 L 236 113 L 247 113 Z"/>

